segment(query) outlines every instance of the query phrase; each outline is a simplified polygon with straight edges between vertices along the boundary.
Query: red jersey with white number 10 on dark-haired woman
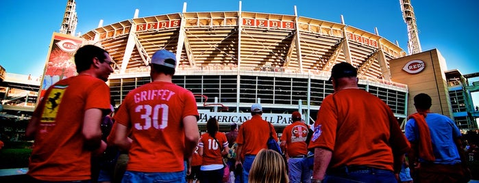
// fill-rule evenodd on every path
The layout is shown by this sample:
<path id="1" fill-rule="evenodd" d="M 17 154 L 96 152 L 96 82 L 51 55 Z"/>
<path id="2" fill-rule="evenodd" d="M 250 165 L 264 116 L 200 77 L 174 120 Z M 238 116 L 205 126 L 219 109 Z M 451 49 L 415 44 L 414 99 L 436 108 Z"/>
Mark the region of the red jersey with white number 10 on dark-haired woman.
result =
<path id="1" fill-rule="evenodd" d="M 209 133 L 201 135 L 198 143 L 199 147 L 203 147 L 203 163 L 201 165 L 223 165 L 221 150 L 228 147 L 228 140 L 223 132 L 217 132 L 214 137 L 216 137 L 218 142 Z M 219 147 L 219 145 L 223 147 Z"/>

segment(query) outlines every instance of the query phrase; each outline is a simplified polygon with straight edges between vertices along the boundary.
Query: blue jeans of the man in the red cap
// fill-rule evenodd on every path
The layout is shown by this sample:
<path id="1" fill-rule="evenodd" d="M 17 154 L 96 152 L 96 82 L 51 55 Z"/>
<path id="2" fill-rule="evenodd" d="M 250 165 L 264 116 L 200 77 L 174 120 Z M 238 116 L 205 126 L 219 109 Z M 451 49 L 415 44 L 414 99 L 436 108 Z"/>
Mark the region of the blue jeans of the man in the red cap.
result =
<path id="1" fill-rule="evenodd" d="M 288 169 L 289 182 L 311 182 L 311 170 L 309 169 L 307 158 L 289 158 Z"/>

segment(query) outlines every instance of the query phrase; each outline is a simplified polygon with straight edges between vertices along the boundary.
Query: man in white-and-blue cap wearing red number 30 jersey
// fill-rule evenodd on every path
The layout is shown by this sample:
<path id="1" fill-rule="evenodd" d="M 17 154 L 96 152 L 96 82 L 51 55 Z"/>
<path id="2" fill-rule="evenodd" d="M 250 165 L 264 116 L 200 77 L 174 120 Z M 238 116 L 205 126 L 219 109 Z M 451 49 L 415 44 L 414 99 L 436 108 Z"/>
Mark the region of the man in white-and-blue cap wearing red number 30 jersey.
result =
<path id="1" fill-rule="evenodd" d="M 123 181 L 186 182 L 184 160 L 191 158 L 199 139 L 196 100 L 172 83 L 175 54 L 157 51 L 150 66 L 151 83 L 127 94 L 108 141 L 129 150 Z"/>

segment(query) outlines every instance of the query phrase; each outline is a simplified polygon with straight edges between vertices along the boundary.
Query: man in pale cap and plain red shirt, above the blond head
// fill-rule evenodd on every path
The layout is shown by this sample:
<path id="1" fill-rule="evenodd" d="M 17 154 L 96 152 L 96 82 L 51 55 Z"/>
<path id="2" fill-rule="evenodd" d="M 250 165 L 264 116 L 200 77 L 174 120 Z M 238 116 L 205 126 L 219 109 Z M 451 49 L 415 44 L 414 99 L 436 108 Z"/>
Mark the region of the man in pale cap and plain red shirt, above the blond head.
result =
<path id="1" fill-rule="evenodd" d="M 249 169 L 253 163 L 256 154 L 262 149 L 267 149 L 269 134 L 273 135 L 278 141 L 278 136 L 273 125 L 261 118 L 262 107 L 260 104 L 251 106 L 251 119 L 244 122 L 238 132 L 236 143 L 236 168 L 243 165 L 243 180 L 248 181 Z"/>

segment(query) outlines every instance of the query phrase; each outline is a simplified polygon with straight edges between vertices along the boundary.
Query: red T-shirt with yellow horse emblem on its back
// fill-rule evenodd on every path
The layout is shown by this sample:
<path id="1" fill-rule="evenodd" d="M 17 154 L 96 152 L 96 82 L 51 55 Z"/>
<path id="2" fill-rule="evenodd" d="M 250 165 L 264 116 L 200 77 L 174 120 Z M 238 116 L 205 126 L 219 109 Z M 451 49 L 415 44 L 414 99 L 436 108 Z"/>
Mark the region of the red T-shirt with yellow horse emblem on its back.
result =
<path id="1" fill-rule="evenodd" d="M 95 108 L 110 109 L 110 88 L 101 79 L 79 75 L 49 87 L 33 114 L 40 124 L 27 174 L 38 180 L 90 180 L 91 152 L 83 148 L 82 126 L 86 109 Z"/>

